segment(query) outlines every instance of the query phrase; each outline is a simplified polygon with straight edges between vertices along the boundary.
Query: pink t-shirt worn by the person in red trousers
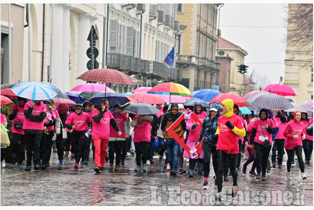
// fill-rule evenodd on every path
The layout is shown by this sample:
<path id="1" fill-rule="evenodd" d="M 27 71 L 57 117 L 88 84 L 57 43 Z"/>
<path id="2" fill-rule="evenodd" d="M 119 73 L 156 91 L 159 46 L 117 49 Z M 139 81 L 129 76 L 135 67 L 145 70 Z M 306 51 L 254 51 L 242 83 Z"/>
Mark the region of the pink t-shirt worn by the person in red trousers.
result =
<path id="1" fill-rule="evenodd" d="M 94 117 L 98 115 L 100 111 L 98 109 L 93 109 L 91 116 Z M 99 122 L 92 119 L 92 135 L 99 138 L 109 139 L 110 137 L 110 120 L 114 119 L 110 111 L 106 111 Z"/>

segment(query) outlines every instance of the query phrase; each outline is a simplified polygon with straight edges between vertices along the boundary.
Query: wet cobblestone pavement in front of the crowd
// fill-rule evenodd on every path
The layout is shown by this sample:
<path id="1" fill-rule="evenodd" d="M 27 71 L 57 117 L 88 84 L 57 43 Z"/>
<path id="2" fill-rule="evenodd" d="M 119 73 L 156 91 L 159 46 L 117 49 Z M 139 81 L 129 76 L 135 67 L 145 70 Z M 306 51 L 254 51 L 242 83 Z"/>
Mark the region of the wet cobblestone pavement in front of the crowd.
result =
<path id="1" fill-rule="evenodd" d="M 92 153 L 91 153 L 92 155 Z M 272 168 L 267 181 L 256 180 L 239 171 L 239 192 L 231 198 L 232 177 L 224 181 L 223 202 L 216 202 L 217 190 L 213 188 L 214 171 L 211 166 L 209 189 L 202 190 L 203 176 L 188 178 L 188 163 L 184 161 L 185 174 L 170 176 L 170 170 L 161 172 L 163 165 L 148 165 L 147 172 L 135 172 L 134 155 L 126 158 L 120 171 L 94 172 L 94 161 L 74 169 L 75 160 L 64 158 L 59 165 L 56 153 L 52 153 L 51 167 L 46 170 L 24 171 L 22 167 L 6 164 L 1 168 L 1 206 L 313 206 L 313 162 L 307 165 L 307 179 L 303 180 L 298 162 L 291 168 L 293 180 L 286 177 L 283 167 Z M 286 156 L 284 157 L 286 161 Z M 244 163 L 245 160 L 241 160 Z M 242 168 L 242 167 L 241 167 Z"/>

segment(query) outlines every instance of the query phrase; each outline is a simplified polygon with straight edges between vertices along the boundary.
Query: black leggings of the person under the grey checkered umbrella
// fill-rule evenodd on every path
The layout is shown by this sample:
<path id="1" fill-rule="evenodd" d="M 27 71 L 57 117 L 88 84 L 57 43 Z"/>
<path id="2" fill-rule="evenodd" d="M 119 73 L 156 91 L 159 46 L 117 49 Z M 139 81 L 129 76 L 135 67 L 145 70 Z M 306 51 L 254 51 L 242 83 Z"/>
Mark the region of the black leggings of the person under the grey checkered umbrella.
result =
<path id="1" fill-rule="evenodd" d="M 268 147 L 265 147 L 263 144 L 259 144 L 257 142 L 254 142 L 254 149 L 255 149 L 255 154 L 256 154 L 256 170 L 257 173 L 262 175 L 266 175 L 266 170 L 267 170 L 267 160 L 269 156 L 269 152 L 271 149 L 271 145 Z"/>

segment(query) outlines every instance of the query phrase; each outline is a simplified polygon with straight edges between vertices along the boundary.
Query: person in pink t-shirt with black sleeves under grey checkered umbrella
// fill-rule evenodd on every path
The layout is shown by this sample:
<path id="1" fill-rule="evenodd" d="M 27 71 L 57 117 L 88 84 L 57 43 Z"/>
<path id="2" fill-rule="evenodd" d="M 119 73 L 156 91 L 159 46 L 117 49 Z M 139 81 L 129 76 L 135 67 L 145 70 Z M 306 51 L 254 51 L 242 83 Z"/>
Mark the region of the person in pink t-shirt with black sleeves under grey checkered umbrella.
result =
<path id="1" fill-rule="evenodd" d="M 272 120 L 268 119 L 268 117 L 268 110 L 261 109 L 259 113 L 260 119 L 254 121 L 250 137 L 251 149 L 253 149 L 254 143 L 256 153 L 256 179 L 261 179 L 262 172 L 263 181 L 266 181 L 267 162 L 272 144 L 271 134 L 276 133 L 276 126 Z"/>

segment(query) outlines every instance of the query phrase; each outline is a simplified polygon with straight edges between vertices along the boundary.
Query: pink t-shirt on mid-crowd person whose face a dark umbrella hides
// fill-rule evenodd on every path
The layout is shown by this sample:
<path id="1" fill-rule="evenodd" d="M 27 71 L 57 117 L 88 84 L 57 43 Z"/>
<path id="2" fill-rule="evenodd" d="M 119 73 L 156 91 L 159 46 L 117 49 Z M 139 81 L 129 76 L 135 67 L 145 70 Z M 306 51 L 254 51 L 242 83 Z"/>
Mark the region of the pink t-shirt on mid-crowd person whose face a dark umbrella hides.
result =
<path id="1" fill-rule="evenodd" d="M 133 120 L 138 118 L 138 115 L 135 116 Z M 134 138 L 133 142 L 142 142 L 149 141 L 150 142 L 150 129 L 151 125 L 148 120 L 142 120 L 142 122 L 137 123 L 134 127 Z"/>

